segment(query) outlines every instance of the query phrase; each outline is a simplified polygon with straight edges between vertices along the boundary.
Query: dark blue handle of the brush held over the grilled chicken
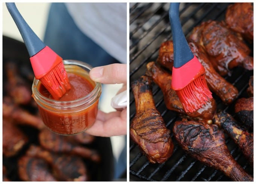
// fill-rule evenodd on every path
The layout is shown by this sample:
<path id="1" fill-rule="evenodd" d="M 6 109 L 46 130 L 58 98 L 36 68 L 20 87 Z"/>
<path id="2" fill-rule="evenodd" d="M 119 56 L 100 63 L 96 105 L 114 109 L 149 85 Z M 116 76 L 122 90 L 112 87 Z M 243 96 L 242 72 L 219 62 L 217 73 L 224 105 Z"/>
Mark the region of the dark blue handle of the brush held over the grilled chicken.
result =
<path id="1" fill-rule="evenodd" d="M 180 23 L 180 3 L 170 3 L 169 19 L 171 23 L 172 40 L 174 45 L 174 67 L 178 68 L 194 58 Z"/>

